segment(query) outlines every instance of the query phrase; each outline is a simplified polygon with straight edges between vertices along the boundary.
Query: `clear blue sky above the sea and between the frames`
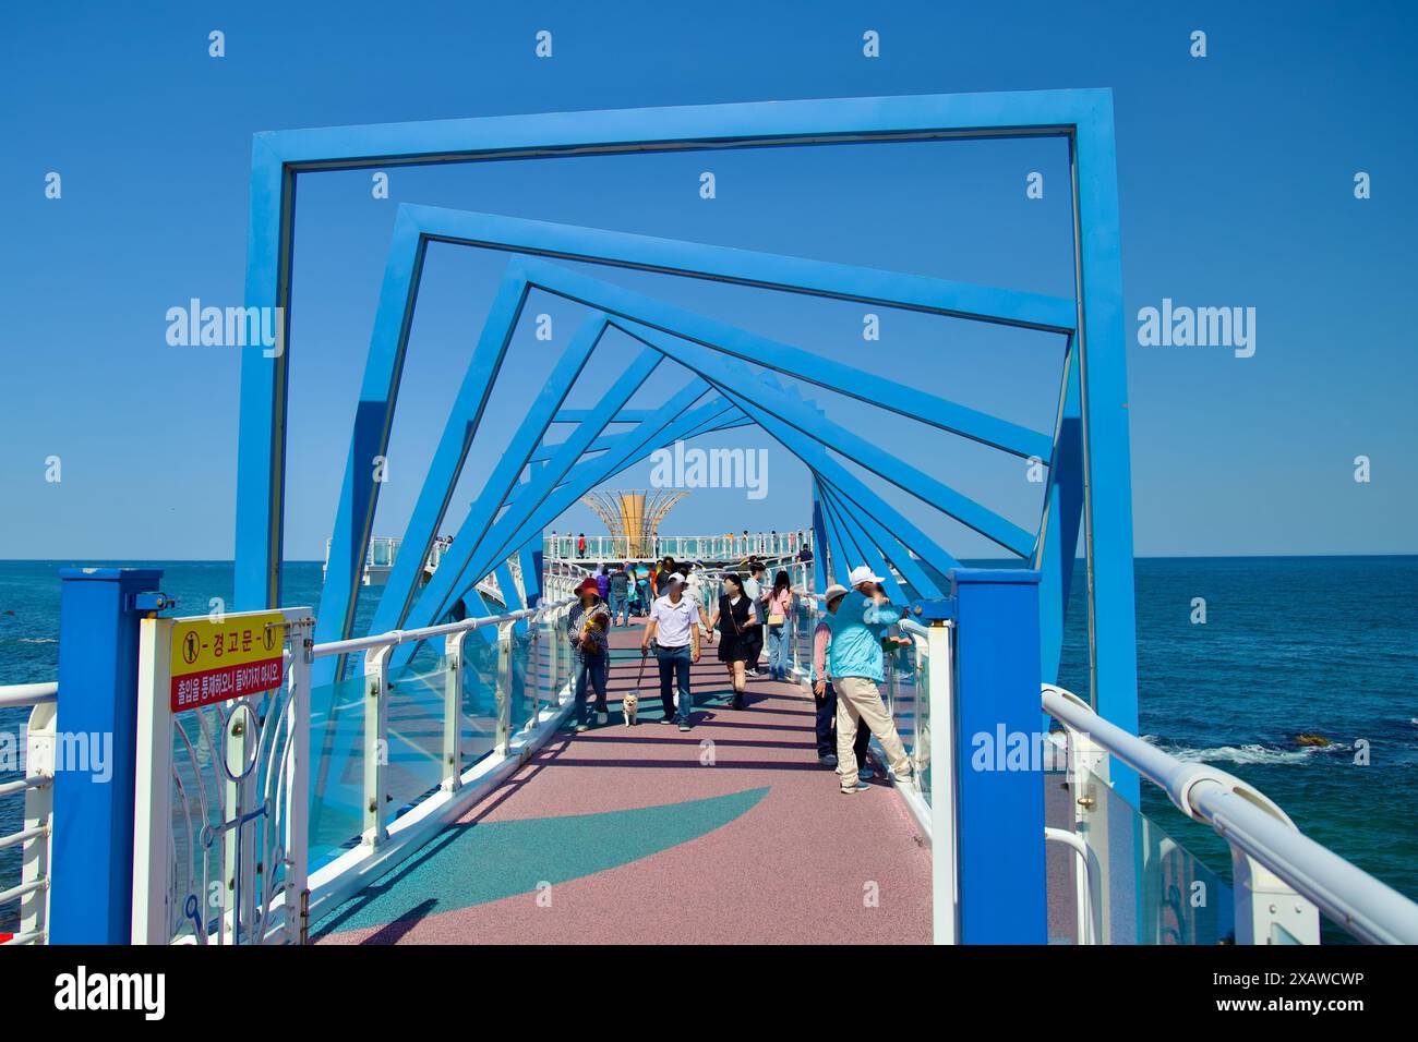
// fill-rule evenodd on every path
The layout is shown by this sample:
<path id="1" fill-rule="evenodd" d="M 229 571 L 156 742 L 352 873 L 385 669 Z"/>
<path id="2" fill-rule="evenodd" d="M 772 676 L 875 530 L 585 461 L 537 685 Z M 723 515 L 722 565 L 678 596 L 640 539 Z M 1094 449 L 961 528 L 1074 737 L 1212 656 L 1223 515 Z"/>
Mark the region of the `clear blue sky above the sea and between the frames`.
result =
<path id="1" fill-rule="evenodd" d="M 1157 7 L 1159 10 L 1151 10 Z M 164 313 L 241 303 L 257 130 L 786 98 L 1110 86 L 1127 313 L 1161 298 L 1256 309 L 1256 353 L 1140 347 L 1129 383 L 1139 554 L 1418 551 L 1412 4 L 170 4 L 11 6 L 0 33 L 0 557 L 223 559 L 233 546 L 234 349 L 170 347 Z M 1245 10 L 1249 9 L 1249 10 Z M 1000 10 L 1000 13 L 995 13 Z M 553 33 L 553 58 L 533 54 Z M 210 58 L 207 34 L 225 33 Z M 882 57 L 862 57 L 865 30 Z M 1190 57 L 1193 30 L 1208 57 Z M 1404 99 L 1408 101 L 1404 101 Z M 718 198 L 700 200 L 713 170 Z M 1045 197 L 1027 200 L 1029 172 Z M 1373 198 L 1353 196 L 1358 170 Z M 48 172 L 62 198 L 47 200 Z M 695 238 L 1069 295 L 1056 142 L 920 143 L 400 169 L 301 183 L 288 556 L 335 510 L 398 201 Z M 398 534 L 505 258 L 435 248 L 376 530 Z M 604 272 L 603 272 L 604 274 Z M 1048 430 L 1058 342 L 856 305 L 628 272 L 625 285 L 898 374 Z M 571 306 L 553 313 L 563 337 Z M 1136 323 L 1129 322 L 1129 330 Z M 519 336 L 479 435 L 491 466 L 550 367 Z M 620 353 L 617 353 L 620 352 Z M 588 401 L 624 346 L 579 388 Z M 640 404 L 668 393 L 666 374 Z M 820 396 L 1012 520 L 1038 486 L 1012 458 Z M 795 527 L 801 466 L 770 495 L 696 492 L 679 532 Z M 45 481 L 45 458 L 62 481 Z M 1356 483 L 1353 459 L 1373 461 Z M 613 486 L 644 486 L 648 468 Z M 467 495 L 459 496 L 465 502 Z M 906 506 L 905 503 L 900 503 Z M 929 523 L 957 556 L 990 553 Z M 461 509 L 459 509 L 461 515 Z M 597 530 L 584 509 L 557 527 Z"/>

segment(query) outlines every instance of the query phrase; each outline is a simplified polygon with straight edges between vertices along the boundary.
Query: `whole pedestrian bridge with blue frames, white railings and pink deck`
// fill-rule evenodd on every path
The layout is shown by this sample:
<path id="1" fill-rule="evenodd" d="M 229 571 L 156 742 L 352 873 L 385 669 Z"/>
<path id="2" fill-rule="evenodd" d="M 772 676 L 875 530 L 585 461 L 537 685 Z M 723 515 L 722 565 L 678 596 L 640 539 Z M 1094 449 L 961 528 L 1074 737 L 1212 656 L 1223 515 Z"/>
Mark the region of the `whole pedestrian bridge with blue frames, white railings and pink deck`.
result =
<path id="1" fill-rule="evenodd" d="M 1066 145 L 1075 296 L 400 204 L 330 503 L 323 588 L 318 604 L 289 605 L 298 180 L 960 139 Z M 506 265 L 437 442 L 408 461 L 418 492 L 376 595 L 366 586 L 373 526 L 434 242 L 498 251 Z M 1320 913 L 1363 940 L 1418 941 L 1411 902 L 1307 839 L 1242 781 L 1137 737 L 1107 91 L 262 133 L 247 255 L 247 305 L 272 309 L 282 327 L 278 350 L 242 353 L 237 611 L 176 617 L 152 570 L 64 574 L 57 683 L 0 692 L 0 706 L 34 706 L 28 773 L 0 785 L 0 797 L 26 802 L 26 827 L 0 839 L 23 848 L 20 879 L 0 889 L 0 903 L 20 907 L 14 941 L 1312 943 Z M 1046 414 L 1005 418 L 883 376 L 879 360 L 774 340 L 597 268 L 788 293 L 804 309 L 845 301 L 1021 330 L 1038 337 L 1056 396 Z M 508 350 L 532 293 L 574 306 L 580 325 L 546 346 L 552 371 L 525 418 L 491 432 L 502 442 L 458 520 L 451 506 L 475 435 L 489 434 L 488 404 L 518 379 Z M 583 376 L 610 336 L 634 353 L 591 388 Z M 665 374 L 669 390 L 642 408 L 637 393 Z M 912 448 L 963 439 L 1037 471 L 1028 522 L 961 493 L 929 451 L 903 454 L 871 437 L 871 424 L 842 422 L 837 401 L 912 424 Z M 718 666 L 700 663 L 703 703 L 688 737 L 654 723 L 573 737 L 557 627 L 584 561 L 549 547 L 550 530 L 627 468 L 744 427 L 781 447 L 811 489 L 781 515 L 783 530 L 811 533 L 811 559 L 793 568 L 791 679 L 754 682 L 752 705 L 732 710 Z M 932 534 L 950 529 L 917 523 L 922 512 L 981 537 L 1004 564 L 966 567 L 960 547 Z M 445 525 L 451 542 L 440 537 Z M 1073 695 L 1055 683 L 1078 547 L 1088 678 Z M 916 780 L 883 778 L 844 798 L 810 749 L 804 646 L 828 583 L 859 564 L 908 611 L 888 642 L 886 695 Z M 638 662 L 618 654 L 624 692 Z M 122 747 L 115 784 L 55 770 L 65 736 L 89 732 Z M 1229 873 L 1141 814 L 1144 781 L 1224 835 Z"/>

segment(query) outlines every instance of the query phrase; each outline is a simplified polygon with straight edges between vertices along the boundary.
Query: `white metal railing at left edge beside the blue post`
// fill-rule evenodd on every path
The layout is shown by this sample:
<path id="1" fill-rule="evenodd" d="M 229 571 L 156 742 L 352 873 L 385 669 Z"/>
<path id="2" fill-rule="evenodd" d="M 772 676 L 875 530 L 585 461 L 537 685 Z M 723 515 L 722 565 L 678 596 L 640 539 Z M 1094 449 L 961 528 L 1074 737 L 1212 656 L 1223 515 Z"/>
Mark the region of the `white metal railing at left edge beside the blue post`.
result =
<path id="1" fill-rule="evenodd" d="M 20 882 L 0 889 L 0 904 L 18 902 L 20 929 L 6 944 L 44 944 L 50 920 L 50 859 L 54 827 L 54 747 L 58 683 L 0 686 L 0 707 L 31 707 L 24 777 L 0 784 L 0 798 L 24 797 L 24 828 L 0 835 L 0 849 L 20 846 Z M 3 882 L 0 882 L 3 887 Z"/>

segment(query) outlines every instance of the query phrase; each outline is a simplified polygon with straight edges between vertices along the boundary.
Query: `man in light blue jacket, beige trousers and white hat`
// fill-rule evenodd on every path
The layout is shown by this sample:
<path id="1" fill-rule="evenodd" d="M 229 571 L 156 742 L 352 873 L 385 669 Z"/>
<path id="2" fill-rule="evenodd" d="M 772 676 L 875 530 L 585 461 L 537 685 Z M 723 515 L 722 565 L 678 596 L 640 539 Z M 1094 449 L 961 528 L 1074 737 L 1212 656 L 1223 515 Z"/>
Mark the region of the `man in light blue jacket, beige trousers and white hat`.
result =
<path id="1" fill-rule="evenodd" d="M 837 763 L 844 795 L 866 791 L 866 785 L 856 777 L 856 757 L 852 753 L 859 723 L 865 723 L 882 743 L 896 784 L 905 785 L 912 780 L 910 757 L 906 756 L 896 724 L 876 688 L 886 679 L 882 637 L 903 614 L 902 608 L 892 605 L 878 591 L 881 581 L 865 564 L 852 568 L 848 578 L 852 593 L 841 600 L 835 614 L 827 617 L 832 634 L 828 654 L 837 688 Z"/>

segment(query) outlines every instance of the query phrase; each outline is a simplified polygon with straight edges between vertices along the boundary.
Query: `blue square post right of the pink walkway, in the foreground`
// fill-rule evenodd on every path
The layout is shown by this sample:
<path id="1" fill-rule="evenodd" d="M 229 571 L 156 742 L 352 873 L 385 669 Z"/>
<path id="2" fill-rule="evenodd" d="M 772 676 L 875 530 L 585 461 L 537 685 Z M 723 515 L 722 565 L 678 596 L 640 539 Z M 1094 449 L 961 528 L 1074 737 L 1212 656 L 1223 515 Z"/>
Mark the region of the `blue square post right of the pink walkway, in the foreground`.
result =
<path id="1" fill-rule="evenodd" d="M 953 568 L 963 944 L 1045 944 L 1039 573 Z"/>

